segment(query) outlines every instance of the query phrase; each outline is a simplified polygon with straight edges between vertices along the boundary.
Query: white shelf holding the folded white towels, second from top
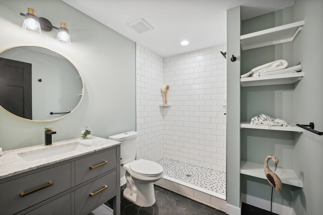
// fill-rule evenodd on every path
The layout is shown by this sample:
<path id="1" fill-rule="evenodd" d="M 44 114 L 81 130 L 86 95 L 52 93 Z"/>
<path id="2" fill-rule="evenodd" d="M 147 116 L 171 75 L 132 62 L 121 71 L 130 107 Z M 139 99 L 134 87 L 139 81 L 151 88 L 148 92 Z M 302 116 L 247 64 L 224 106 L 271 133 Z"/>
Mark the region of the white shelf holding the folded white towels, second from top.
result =
<path id="1" fill-rule="evenodd" d="M 301 80 L 304 77 L 304 72 L 284 73 L 279 75 L 266 75 L 257 77 L 240 78 L 242 87 L 264 86 L 276 84 L 292 84 Z"/>

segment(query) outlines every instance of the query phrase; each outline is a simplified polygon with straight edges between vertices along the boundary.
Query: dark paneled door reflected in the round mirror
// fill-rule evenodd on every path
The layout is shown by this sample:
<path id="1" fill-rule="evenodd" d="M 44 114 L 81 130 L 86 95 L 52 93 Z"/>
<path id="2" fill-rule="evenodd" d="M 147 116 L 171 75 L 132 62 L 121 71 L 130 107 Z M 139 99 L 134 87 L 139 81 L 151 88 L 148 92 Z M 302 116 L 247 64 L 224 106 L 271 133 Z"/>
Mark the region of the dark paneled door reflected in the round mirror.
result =
<path id="1" fill-rule="evenodd" d="M 0 105 L 32 119 L 31 64 L 0 58 Z"/>

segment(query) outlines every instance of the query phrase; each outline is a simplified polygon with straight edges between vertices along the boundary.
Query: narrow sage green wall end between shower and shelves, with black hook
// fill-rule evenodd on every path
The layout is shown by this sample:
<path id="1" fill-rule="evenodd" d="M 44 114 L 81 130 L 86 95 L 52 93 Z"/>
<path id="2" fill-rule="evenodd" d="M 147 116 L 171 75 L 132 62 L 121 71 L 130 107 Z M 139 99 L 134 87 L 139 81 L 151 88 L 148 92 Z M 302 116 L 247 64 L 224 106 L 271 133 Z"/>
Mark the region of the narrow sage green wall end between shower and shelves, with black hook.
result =
<path id="1" fill-rule="evenodd" d="M 240 213 L 240 7 L 227 12 L 227 213 Z M 230 56 L 237 61 L 231 62 Z"/>

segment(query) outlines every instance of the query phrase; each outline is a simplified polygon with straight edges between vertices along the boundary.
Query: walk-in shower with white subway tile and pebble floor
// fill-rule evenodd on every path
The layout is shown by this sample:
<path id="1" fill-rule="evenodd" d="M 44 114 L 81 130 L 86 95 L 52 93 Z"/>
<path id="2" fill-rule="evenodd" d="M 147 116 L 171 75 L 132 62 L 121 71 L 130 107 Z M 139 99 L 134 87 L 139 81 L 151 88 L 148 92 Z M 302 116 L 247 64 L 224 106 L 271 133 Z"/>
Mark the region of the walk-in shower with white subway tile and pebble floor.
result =
<path id="1" fill-rule="evenodd" d="M 226 210 L 225 45 L 162 58 L 136 47 L 137 159 L 161 164 L 159 186 Z M 163 104 L 162 85 L 170 85 Z"/>

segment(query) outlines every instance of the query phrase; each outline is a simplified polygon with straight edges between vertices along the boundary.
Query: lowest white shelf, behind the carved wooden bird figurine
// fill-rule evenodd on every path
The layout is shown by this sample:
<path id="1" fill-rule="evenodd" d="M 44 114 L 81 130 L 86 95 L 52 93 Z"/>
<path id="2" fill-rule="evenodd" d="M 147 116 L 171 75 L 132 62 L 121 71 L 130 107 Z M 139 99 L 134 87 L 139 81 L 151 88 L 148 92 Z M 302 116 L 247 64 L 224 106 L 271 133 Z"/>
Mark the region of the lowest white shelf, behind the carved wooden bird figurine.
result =
<path id="1" fill-rule="evenodd" d="M 270 167 L 274 170 L 274 167 Z M 253 176 L 261 179 L 266 179 L 263 164 L 256 164 L 241 160 L 240 173 L 248 176 Z M 293 170 L 277 168 L 276 175 L 281 179 L 283 184 L 289 184 L 295 187 L 303 187 L 303 182 L 297 177 Z"/>

